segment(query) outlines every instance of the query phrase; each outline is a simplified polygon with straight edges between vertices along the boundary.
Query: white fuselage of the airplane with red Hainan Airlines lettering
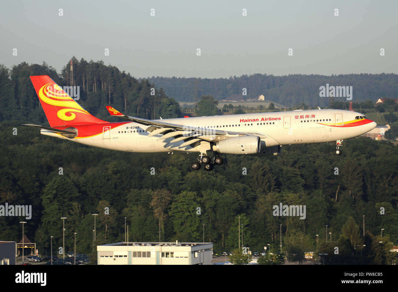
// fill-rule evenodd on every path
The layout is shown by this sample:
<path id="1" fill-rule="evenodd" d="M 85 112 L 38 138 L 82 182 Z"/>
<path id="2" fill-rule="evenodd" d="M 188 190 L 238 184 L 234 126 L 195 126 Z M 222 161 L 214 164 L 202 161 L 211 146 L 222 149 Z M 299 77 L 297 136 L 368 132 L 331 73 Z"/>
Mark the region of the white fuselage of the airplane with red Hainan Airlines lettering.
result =
<path id="1" fill-rule="evenodd" d="M 298 110 L 290 112 L 268 112 L 256 114 L 236 114 L 206 116 L 194 118 L 175 118 L 158 120 L 187 127 L 200 127 L 211 130 L 243 132 L 259 135 L 261 147 L 304 143 L 323 143 L 348 139 L 367 133 L 375 128 L 373 121 L 355 125 L 355 118 L 363 116 L 348 110 Z M 353 122 L 354 121 L 354 122 Z M 117 126 L 113 126 L 116 125 Z M 107 123 L 110 131 L 104 131 L 89 137 L 66 138 L 60 134 L 41 130 L 44 135 L 51 135 L 78 143 L 96 147 L 141 153 L 155 152 L 200 152 L 199 146 L 179 147 L 183 141 L 170 144 L 174 138 L 158 140 L 161 134 L 149 136 L 146 129 L 136 122 Z M 85 126 L 78 126 L 82 128 Z M 106 127 L 104 127 L 106 128 Z M 214 142 L 217 142 L 216 140 Z"/>

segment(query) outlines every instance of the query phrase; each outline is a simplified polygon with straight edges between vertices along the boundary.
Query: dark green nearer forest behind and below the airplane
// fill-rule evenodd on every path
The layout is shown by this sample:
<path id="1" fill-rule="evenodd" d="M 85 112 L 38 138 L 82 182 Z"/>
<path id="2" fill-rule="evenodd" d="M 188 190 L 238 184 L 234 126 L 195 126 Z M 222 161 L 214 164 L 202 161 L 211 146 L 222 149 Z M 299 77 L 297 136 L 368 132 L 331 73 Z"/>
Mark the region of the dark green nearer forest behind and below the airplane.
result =
<path id="1" fill-rule="evenodd" d="M 205 241 L 218 254 L 236 249 L 243 232 L 252 251 L 269 244 L 277 252 L 282 239 L 293 261 L 302 261 L 306 251 L 328 253 L 333 264 L 396 261 L 389 250 L 398 245 L 398 148 L 391 142 L 349 139 L 341 156 L 334 155 L 334 143 L 283 146 L 277 157 L 223 155 L 224 164 L 213 172 L 193 172 L 195 154 L 123 153 L 22 126 L 47 125 L 29 80 L 40 74 L 81 86 L 78 102 L 108 121 L 109 103 L 143 118 L 181 114 L 157 83 L 83 59 L 73 70 L 72 79 L 67 66 L 60 76 L 45 63 L 0 67 L 0 205 L 32 206 L 24 230 L 39 253 L 50 253 L 50 236 L 53 247 L 62 246 L 61 217 L 67 217 L 66 252 L 76 232 L 78 253 L 124 241 L 126 218 L 130 242 L 201 242 L 205 224 Z M 280 203 L 305 205 L 305 219 L 274 216 Z M 0 217 L 0 240 L 19 241 L 21 220 Z"/>

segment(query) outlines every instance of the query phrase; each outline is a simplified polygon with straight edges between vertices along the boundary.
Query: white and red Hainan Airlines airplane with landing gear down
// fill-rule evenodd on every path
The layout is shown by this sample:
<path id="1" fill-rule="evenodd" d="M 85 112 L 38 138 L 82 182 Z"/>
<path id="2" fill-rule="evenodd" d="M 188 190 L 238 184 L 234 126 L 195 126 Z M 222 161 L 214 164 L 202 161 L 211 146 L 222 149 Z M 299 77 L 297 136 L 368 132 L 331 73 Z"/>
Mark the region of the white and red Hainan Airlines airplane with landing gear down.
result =
<path id="1" fill-rule="evenodd" d="M 50 127 L 24 125 L 41 129 L 43 135 L 105 149 L 198 153 L 197 162 L 191 164 L 193 170 L 199 170 L 201 165 L 205 170 L 213 170 L 214 165 L 223 164 L 222 154 L 279 155 L 282 145 L 336 141 L 335 153 L 341 155 L 345 139 L 377 126 L 359 112 L 319 107 L 318 110 L 147 120 L 107 106 L 111 116 L 123 119 L 109 123 L 92 116 L 49 76 L 30 78 Z"/>

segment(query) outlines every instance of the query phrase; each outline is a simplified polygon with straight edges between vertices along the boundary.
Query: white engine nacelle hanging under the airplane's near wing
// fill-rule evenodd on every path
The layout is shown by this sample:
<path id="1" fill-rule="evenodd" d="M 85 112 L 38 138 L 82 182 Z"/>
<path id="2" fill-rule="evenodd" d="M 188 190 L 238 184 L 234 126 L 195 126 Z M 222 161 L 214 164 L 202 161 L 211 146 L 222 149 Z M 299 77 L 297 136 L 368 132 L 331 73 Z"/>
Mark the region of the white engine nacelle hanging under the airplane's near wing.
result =
<path id="1" fill-rule="evenodd" d="M 259 153 L 260 147 L 260 137 L 238 136 L 217 142 L 213 151 L 225 154 L 256 154 Z"/>

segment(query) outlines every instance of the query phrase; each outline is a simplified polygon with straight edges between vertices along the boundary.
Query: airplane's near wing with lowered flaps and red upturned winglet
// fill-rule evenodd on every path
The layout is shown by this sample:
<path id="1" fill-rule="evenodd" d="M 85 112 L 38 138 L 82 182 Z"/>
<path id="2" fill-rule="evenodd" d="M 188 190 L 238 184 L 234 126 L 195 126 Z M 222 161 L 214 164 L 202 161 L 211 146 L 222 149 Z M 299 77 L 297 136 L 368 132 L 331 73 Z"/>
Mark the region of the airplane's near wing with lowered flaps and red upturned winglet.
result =
<path id="1" fill-rule="evenodd" d="M 146 131 L 150 132 L 149 136 L 161 134 L 162 137 L 159 137 L 158 140 L 164 140 L 173 137 L 174 139 L 172 139 L 169 142 L 169 144 L 176 143 L 179 141 L 184 141 L 179 146 L 179 148 L 189 145 L 191 145 L 191 147 L 193 148 L 197 146 L 195 144 L 200 142 L 201 140 L 220 141 L 236 136 L 259 135 L 257 133 L 244 133 L 244 132 L 234 132 L 227 130 L 224 131 L 216 129 L 207 129 L 207 128 L 184 126 L 178 124 L 170 124 L 155 120 L 147 120 L 142 118 L 136 118 L 133 116 L 126 116 L 125 114 L 122 114 L 121 112 L 117 111 L 115 108 L 111 106 L 107 106 L 106 108 L 109 114 L 111 114 L 111 116 L 118 116 L 119 118 L 130 120 L 132 122 L 136 122 L 145 126 L 150 126 L 149 128 L 146 129 Z"/>

